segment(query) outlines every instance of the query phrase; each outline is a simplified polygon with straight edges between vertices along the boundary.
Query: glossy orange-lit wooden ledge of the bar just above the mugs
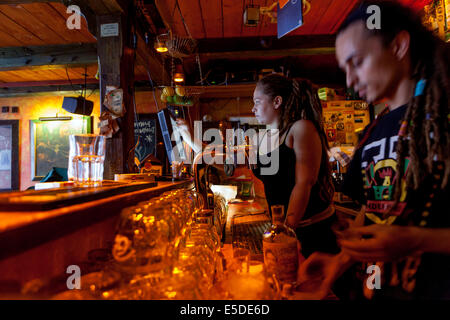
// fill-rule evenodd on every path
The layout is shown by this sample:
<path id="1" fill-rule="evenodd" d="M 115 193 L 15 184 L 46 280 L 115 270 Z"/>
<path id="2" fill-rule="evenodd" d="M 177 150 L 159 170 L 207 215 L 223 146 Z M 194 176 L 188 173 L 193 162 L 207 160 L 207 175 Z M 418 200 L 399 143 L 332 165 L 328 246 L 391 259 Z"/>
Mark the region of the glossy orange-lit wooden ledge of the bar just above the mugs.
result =
<path id="1" fill-rule="evenodd" d="M 192 180 L 158 181 L 157 186 L 148 188 L 146 183 L 139 189 L 139 183 L 130 183 L 131 190 L 104 193 L 92 201 L 75 203 L 51 210 L 6 211 L 0 210 L 0 259 L 39 246 L 48 241 L 72 234 L 77 230 L 96 225 L 117 217 L 123 208 L 176 188 L 192 188 Z M 147 184 L 148 185 L 148 184 Z M 130 190 L 130 189 L 128 189 Z M 49 191 L 49 190 L 44 190 Z M 39 193 L 39 191 L 35 191 Z M 30 196 L 33 192 L 19 193 Z M 17 193 L 10 193 L 10 196 Z M 7 197 L 8 194 L 2 194 Z M 87 198 L 89 200 L 89 198 Z"/>

